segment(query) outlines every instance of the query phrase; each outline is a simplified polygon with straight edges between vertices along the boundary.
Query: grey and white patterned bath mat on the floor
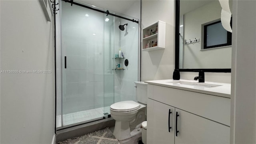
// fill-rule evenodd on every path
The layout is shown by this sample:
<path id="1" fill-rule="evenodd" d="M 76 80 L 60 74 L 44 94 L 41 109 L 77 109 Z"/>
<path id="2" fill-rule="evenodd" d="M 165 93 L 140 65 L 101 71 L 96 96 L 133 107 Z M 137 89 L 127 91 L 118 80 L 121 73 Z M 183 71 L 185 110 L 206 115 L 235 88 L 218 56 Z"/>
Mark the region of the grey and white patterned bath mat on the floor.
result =
<path id="1" fill-rule="evenodd" d="M 120 144 L 113 133 L 104 128 L 90 134 L 67 139 L 57 144 Z"/>

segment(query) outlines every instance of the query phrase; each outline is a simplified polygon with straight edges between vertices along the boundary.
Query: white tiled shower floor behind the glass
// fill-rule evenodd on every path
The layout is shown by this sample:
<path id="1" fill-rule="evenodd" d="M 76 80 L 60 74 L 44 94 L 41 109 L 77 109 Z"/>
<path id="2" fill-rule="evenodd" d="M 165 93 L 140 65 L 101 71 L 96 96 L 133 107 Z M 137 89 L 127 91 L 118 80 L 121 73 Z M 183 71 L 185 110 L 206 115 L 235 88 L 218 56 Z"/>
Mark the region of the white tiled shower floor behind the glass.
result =
<path id="1" fill-rule="evenodd" d="M 78 122 L 85 122 L 96 118 L 101 118 L 104 116 L 104 109 L 105 112 L 108 111 L 109 113 L 110 106 L 95 108 L 92 110 L 84 110 L 80 112 L 73 112 L 70 114 L 63 114 L 63 126 L 75 124 Z M 58 128 L 61 127 L 61 125 L 61 116 L 58 115 L 56 116 L 56 126 Z"/>

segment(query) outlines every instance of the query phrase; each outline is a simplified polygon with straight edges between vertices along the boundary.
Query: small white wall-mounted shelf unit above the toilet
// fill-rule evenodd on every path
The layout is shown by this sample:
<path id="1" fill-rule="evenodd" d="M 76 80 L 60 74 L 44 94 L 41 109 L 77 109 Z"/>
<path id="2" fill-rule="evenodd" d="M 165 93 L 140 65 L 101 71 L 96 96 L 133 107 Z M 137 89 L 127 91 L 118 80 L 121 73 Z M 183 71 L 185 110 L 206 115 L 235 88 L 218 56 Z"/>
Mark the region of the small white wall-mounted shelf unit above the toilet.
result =
<path id="1" fill-rule="evenodd" d="M 151 30 L 154 32 L 156 30 L 156 27 L 158 29 L 158 32 L 155 34 L 151 34 Z M 158 20 L 157 22 L 154 22 L 153 24 L 150 24 L 149 26 L 146 26 L 142 29 L 142 51 L 150 52 L 153 50 L 161 50 L 165 48 L 165 32 L 166 32 L 166 23 Z M 152 45 L 157 41 L 156 46 L 148 46 L 146 48 L 146 45 Z"/>

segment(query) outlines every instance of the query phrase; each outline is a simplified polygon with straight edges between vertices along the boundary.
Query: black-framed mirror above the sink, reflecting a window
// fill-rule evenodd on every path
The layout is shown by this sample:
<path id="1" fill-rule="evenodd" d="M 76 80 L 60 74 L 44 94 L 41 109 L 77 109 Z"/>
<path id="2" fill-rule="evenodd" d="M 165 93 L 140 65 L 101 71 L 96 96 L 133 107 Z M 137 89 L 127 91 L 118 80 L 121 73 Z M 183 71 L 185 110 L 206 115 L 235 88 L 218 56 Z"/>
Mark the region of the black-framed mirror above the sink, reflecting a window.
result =
<path id="1" fill-rule="evenodd" d="M 176 69 L 231 72 L 232 33 L 221 25 L 221 10 L 218 0 L 176 0 Z"/>

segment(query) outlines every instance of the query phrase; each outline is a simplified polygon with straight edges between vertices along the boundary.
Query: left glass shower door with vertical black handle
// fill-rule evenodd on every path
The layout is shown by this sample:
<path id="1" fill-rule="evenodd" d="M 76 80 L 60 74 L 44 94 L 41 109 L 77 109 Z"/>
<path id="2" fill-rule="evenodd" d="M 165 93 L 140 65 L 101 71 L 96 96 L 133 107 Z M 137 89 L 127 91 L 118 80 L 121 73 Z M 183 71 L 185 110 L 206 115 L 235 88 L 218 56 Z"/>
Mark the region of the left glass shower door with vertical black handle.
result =
<path id="1" fill-rule="evenodd" d="M 62 2 L 62 126 L 103 118 L 104 15 Z"/>

